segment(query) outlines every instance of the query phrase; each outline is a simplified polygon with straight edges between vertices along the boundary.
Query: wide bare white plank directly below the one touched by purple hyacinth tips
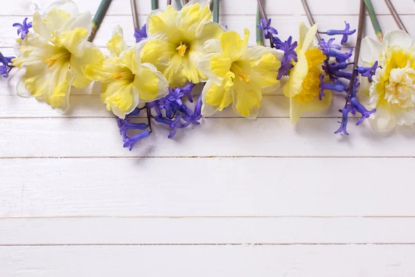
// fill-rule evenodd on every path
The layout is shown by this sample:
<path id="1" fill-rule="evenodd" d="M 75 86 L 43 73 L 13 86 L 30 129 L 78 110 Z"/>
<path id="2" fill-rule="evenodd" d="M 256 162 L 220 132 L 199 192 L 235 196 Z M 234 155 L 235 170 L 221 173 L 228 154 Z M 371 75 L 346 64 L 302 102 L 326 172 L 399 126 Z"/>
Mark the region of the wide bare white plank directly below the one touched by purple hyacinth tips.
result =
<path id="1" fill-rule="evenodd" d="M 71 139 L 73 152 L 82 145 Z M 0 159 L 0 217 L 414 216 L 414 166 L 381 158 Z"/>

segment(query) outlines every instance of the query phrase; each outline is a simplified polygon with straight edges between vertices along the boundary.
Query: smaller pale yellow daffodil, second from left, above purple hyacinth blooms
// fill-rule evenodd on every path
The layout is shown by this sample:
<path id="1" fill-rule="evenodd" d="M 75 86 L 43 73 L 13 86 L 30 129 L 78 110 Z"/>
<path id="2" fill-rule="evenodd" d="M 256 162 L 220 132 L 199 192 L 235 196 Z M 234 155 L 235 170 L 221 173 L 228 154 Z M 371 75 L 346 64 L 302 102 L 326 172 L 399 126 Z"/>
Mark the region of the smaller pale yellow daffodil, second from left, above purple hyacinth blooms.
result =
<path id="1" fill-rule="evenodd" d="M 120 118 L 133 111 L 139 100 L 149 102 L 168 92 L 169 84 L 156 66 L 142 63 L 140 51 L 146 43 L 128 47 L 117 26 L 107 43 L 109 58 L 103 64 L 86 66 L 86 75 L 102 83 L 102 102 Z"/>

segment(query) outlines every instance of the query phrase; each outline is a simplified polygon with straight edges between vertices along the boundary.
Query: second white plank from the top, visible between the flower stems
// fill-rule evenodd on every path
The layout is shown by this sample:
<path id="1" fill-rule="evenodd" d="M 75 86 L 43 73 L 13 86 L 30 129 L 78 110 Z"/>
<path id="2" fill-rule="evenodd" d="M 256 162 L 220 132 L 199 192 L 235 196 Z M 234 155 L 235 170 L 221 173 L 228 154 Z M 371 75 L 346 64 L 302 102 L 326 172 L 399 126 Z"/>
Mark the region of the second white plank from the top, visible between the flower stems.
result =
<path id="1" fill-rule="evenodd" d="M 412 23 L 412 15 L 403 15 L 402 20 L 406 24 L 407 30 L 410 34 L 415 34 L 415 26 Z M 380 26 L 385 32 L 387 30 L 396 30 L 398 26 L 391 15 L 380 15 L 378 17 Z M 140 24 L 144 24 L 146 16 L 142 15 L 139 17 Z M 299 21 L 307 21 L 304 15 L 283 15 L 273 17 L 273 26 L 277 28 L 279 37 L 286 39 L 288 36 L 293 36 L 294 39 L 298 38 L 298 24 Z M 12 47 L 15 44 L 16 30 L 10 26 L 10 22 L 21 21 L 21 17 L 16 16 L 5 16 L 0 17 L 0 32 L 2 33 L 3 39 L 1 39 L 0 47 Z M 344 28 L 344 21 L 351 24 L 351 28 L 357 28 L 358 16 L 357 15 L 317 15 L 315 21 L 319 24 L 321 31 L 333 29 L 333 28 Z M 250 46 L 255 46 L 255 15 L 222 15 L 220 22 L 223 25 L 227 25 L 229 30 L 236 30 L 238 33 L 243 34 L 243 29 L 248 28 L 250 30 Z M 131 16 L 112 16 L 104 17 L 102 26 L 95 37 L 94 43 L 98 46 L 105 46 L 107 41 L 111 39 L 111 33 L 113 28 L 119 24 L 124 29 L 124 38 L 128 44 L 133 44 L 135 39 L 133 37 L 133 21 Z M 369 17 L 366 17 L 365 23 L 365 35 L 376 37 L 374 28 L 371 26 Z M 328 36 L 322 35 L 323 38 L 327 39 Z M 339 37 L 341 39 L 341 37 Z M 356 45 L 356 33 L 351 35 L 347 46 Z"/>

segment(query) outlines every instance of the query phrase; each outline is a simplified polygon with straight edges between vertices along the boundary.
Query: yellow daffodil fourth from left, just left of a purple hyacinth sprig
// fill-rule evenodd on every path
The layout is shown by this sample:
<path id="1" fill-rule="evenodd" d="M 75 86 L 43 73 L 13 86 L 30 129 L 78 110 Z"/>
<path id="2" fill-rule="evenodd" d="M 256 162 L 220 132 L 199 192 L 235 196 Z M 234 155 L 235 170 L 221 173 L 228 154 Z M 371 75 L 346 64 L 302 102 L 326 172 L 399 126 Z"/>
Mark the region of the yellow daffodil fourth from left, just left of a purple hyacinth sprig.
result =
<path id="1" fill-rule="evenodd" d="M 244 37 L 234 31 L 210 39 L 205 49 L 212 52 L 201 59 L 199 69 L 209 80 L 202 91 L 202 114 L 208 116 L 232 107 L 241 116 L 255 118 L 262 93 L 279 87 L 277 71 L 282 51 L 270 47 L 248 48 L 248 29 Z"/>

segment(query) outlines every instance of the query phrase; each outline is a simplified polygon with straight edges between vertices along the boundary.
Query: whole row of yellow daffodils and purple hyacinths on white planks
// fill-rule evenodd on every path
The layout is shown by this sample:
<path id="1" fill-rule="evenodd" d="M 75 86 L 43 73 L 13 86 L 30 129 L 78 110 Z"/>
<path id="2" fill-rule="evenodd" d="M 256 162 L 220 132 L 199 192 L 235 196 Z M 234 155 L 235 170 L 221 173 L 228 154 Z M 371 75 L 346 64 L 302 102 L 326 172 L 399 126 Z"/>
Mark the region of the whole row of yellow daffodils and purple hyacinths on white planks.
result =
<path id="1" fill-rule="evenodd" d="M 115 115 L 129 150 L 151 136 L 152 123 L 167 125 L 171 139 L 178 129 L 230 107 L 256 118 L 264 93 L 279 87 L 289 98 L 293 124 L 304 111 L 333 105 L 334 92 L 344 96 L 335 134 L 348 135 L 347 123 L 356 116 L 356 125 L 370 118 L 378 131 L 414 126 L 414 39 L 403 30 L 385 33 L 382 42 L 362 39 L 363 1 L 353 61 L 353 48 L 345 44 L 356 30 L 347 22 L 343 30 L 322 31 L 310 15 L 311 27 L 299 22 L 294 41 L 278 36 L 258 0 L 258 45 L 249 47 L 248 29 L 240 35 L 218 23 L 218 0 L 213 13 L 210 0 L 185 1 L 183 7 L 178 1 L 178 9 L 169 2 L 160 10 L 152 1 L 146 24 L 130 34 L 136 38 L 133 45 L 114 26 L 104 55 L 92 43 L 98 25 L 91 13 L 80 13 L 71 0 L 57 1 L 42 15 L 35 12 L 33 21 L 13 24 L 19 36 L 16 57 L 0 53 L 1 75 L 8 78 L 14 67 L 24 70 L 17 94 L 34 96 L 60 113 L 68 110 L 72 87 L 100 82 L 100 100 Z M 203 89 L 196 89 L 199 83 Z M 134 122 L 140 113 L 147 114 L 147 123 Z"/>

